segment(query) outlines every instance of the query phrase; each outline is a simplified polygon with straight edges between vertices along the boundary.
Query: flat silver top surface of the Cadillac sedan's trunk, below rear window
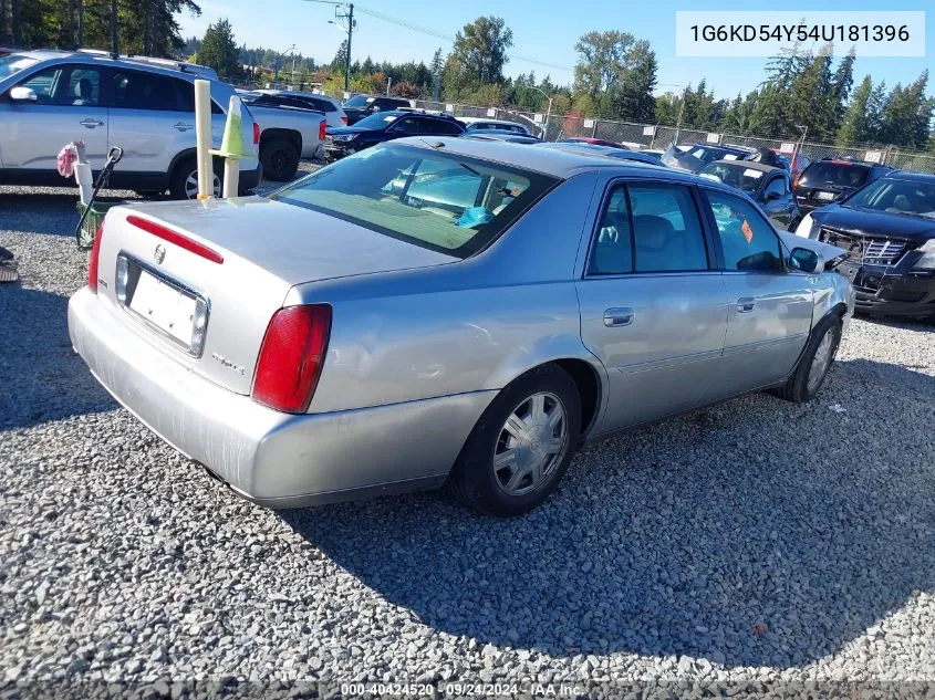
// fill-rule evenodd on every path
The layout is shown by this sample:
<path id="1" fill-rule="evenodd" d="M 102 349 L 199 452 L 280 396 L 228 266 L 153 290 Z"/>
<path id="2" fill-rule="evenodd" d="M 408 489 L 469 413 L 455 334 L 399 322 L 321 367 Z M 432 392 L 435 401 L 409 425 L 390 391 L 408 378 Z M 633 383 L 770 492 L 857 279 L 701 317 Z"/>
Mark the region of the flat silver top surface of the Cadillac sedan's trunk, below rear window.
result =
<path id="1" fill-rule="evenodd" d="M 262 197 L 134 206 L 289 284 L 456 262 L 335 217 Z"/>

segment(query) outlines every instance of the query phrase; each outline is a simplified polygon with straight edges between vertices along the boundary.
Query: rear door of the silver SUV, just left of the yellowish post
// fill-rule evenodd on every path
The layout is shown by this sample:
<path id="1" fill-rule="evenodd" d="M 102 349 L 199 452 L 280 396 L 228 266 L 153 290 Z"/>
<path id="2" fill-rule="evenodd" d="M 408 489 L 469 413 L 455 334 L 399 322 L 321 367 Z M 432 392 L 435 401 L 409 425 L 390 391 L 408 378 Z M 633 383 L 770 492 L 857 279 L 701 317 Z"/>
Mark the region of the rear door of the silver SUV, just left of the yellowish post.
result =
<path id="1" fill-rule="evenodd" d="M 122 173 L 152 176 L 162 184 L 173 157 L 195 148 L 191 83 L 125 67 L 111 70 L 107 82 L 110 143 L 123 148 Z"/>

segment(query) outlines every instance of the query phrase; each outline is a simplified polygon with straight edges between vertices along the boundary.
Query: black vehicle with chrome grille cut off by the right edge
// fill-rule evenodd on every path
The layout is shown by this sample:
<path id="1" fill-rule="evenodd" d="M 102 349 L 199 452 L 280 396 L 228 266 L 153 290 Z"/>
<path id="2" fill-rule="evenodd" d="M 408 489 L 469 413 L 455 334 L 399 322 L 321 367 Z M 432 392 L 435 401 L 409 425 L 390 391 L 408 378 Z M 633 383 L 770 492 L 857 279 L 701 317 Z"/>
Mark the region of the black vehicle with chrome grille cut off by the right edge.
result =
<path id="1" fill-rule="evenodd" d="M 858 311 L 935 317 L 935 175 L 885 175 L 806 216 L 797 233 L 850 252 Z"/>

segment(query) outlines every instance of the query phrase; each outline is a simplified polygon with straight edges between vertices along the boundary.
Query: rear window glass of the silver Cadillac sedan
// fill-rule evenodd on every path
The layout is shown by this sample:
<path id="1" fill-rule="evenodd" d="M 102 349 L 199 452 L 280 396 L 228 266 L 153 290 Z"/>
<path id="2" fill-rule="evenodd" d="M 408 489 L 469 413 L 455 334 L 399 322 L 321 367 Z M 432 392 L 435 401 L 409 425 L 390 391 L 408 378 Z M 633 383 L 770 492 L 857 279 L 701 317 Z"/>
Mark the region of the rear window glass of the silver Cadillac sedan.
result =
<path id="1" fill-rule="evenodd" d="M 392 145 L 339 160 L 271 199 L 467 258 L 557 181 L 476 158 Z"/>

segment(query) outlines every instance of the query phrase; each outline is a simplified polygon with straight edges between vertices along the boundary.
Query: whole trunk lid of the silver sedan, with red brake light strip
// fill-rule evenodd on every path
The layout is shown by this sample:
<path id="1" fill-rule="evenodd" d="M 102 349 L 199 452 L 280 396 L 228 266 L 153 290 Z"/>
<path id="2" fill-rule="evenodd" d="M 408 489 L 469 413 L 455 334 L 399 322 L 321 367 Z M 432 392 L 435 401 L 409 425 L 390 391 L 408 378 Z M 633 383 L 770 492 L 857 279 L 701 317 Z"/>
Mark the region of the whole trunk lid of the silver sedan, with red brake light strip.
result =
<path id="1" fill-rule="evenodd" d="M 100 255 L 98 294 L 128 327 L 239 394 L 250 393 L 267 325 L 295 284 L 457 260 L 259 198 L 114 208 Z"/>

